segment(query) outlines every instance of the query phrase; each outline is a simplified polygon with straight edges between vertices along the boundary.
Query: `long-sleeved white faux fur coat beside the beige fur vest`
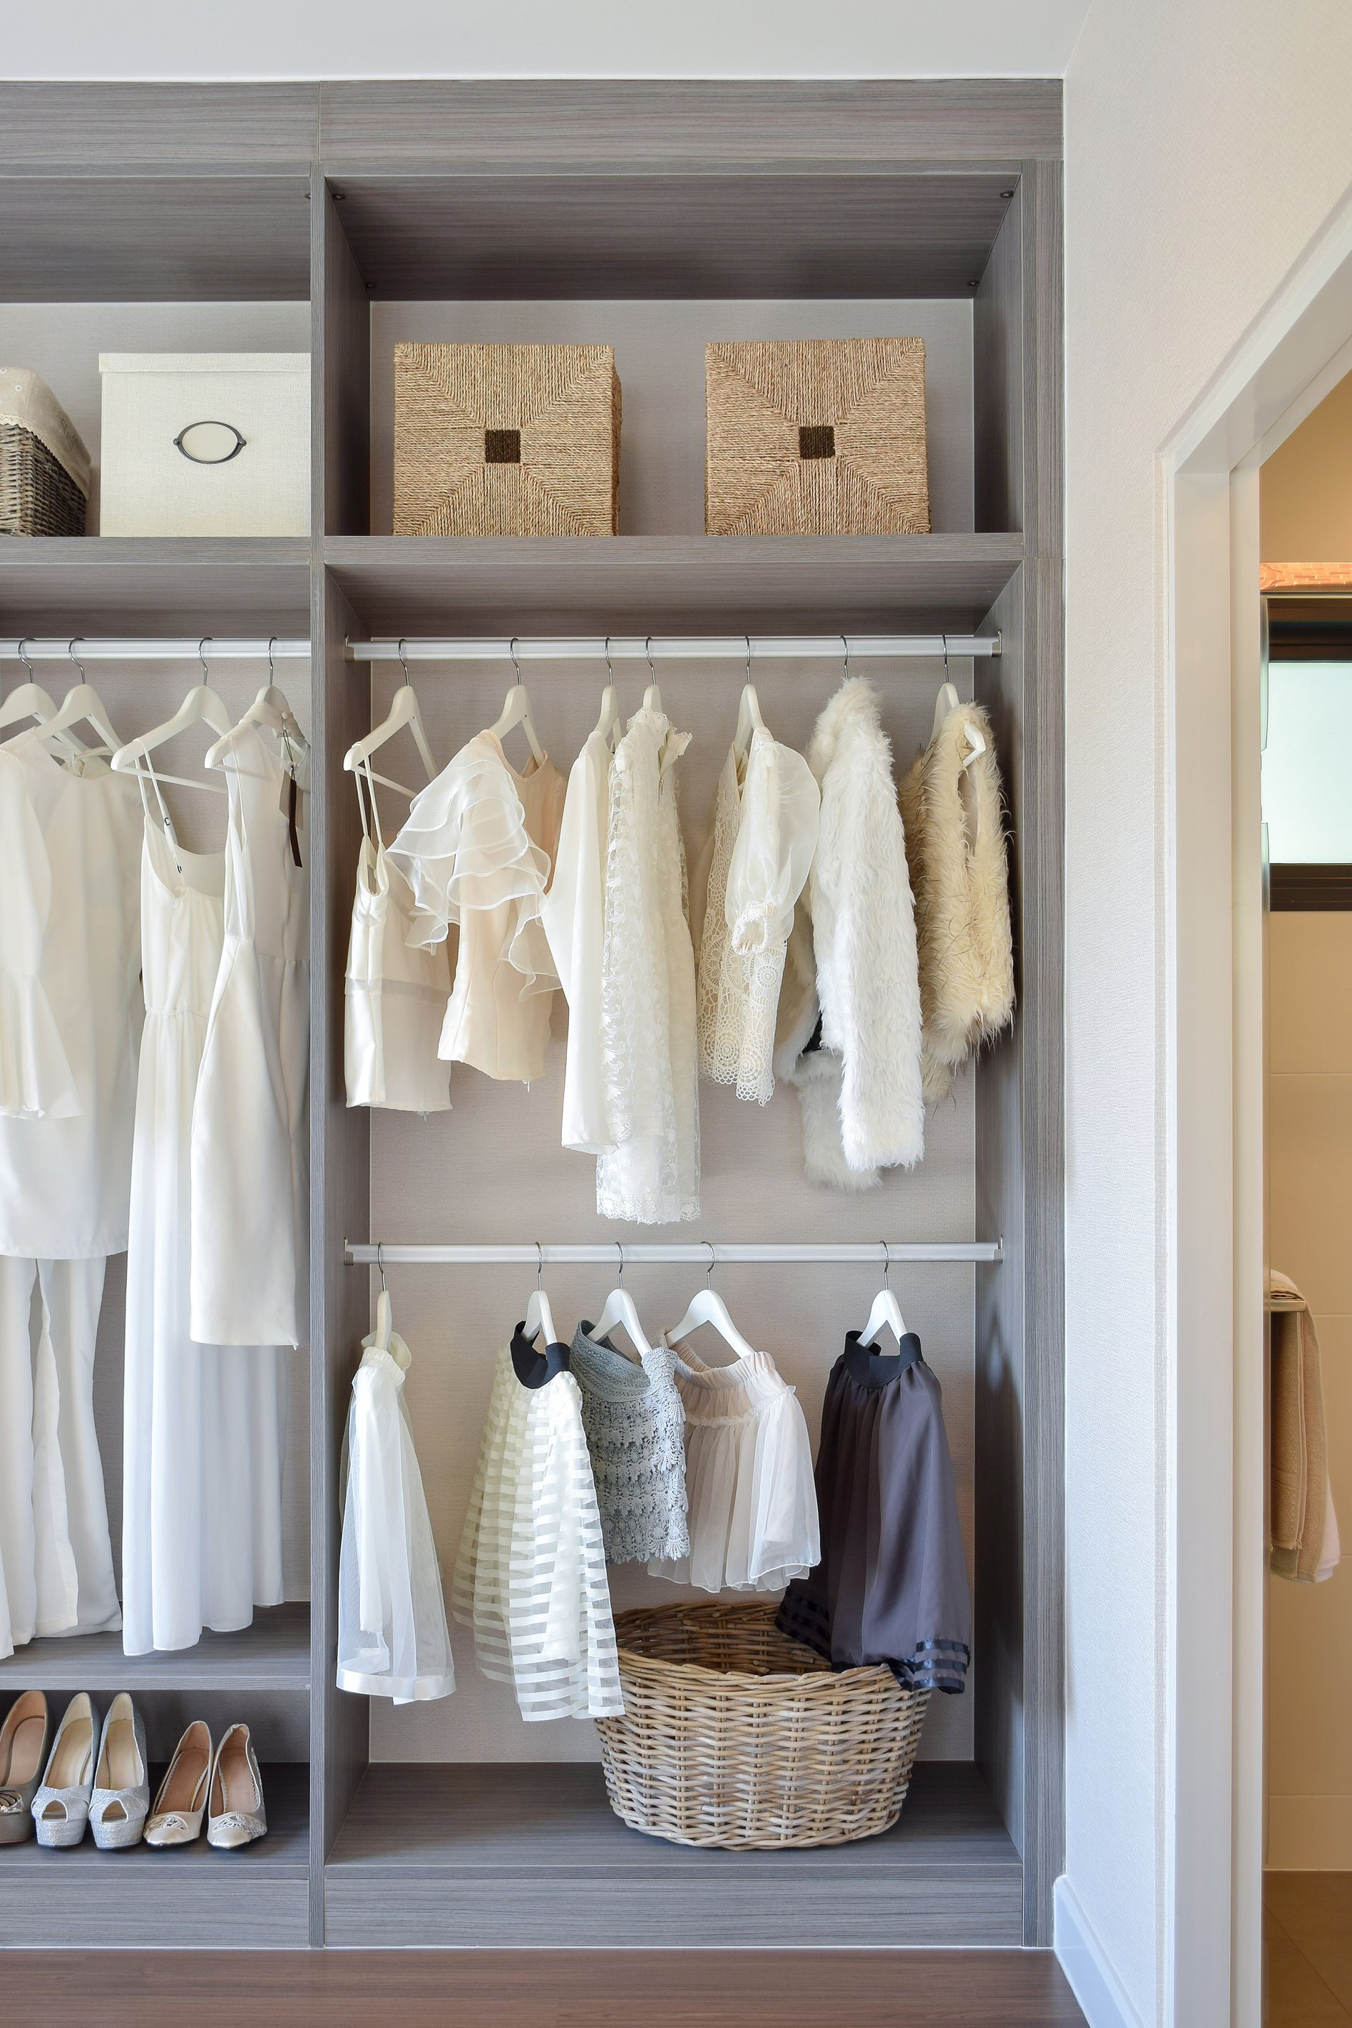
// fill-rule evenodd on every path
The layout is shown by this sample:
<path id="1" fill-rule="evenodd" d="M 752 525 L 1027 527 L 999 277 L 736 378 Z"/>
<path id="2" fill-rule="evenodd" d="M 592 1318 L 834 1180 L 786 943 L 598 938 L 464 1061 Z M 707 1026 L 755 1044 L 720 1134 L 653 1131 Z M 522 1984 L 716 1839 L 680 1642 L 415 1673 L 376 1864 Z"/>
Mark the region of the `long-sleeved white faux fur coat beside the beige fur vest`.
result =
<path id="1" fill-rule="evenodd" d="M 863 677 L 831 698 L 807 760 L 821 827 L 788 941 L 774 1069 L 803 1103 L 809 1178 L 868 1190 L 878 1170 L 924 1154 L 924 1093 L 906 838 L 892 744 Z"/>

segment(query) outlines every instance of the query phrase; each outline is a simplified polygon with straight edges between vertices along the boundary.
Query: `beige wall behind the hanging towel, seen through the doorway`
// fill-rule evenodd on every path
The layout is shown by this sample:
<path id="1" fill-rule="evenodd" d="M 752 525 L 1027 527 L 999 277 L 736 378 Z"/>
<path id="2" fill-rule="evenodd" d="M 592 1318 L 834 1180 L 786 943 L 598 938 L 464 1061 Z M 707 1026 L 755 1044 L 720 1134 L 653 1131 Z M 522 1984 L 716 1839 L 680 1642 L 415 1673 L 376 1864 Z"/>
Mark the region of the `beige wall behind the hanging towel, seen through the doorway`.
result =
<path id="1" fill-rule="evenodd" d="M 1265 475 L 1267 477 L 1267 475 Z M 1324 1353 L 1334 1505 L 1352 1549 L 1352 915 L 1269 925 L 1269 1257 Z M 1352 1558 L 1269 1578 L 1267 1864 L 1352 1870 Z"/>

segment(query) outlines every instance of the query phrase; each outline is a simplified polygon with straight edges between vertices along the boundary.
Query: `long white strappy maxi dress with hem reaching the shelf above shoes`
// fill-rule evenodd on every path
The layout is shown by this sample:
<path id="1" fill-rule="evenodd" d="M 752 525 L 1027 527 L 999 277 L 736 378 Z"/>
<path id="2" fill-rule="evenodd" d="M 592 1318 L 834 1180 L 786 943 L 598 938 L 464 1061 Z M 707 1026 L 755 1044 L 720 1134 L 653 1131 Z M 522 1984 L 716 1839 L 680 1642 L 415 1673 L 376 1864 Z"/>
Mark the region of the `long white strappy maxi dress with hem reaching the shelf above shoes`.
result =
<path id="1" fill-rule="evenodd" d="M 189 1334 L 191 1142 L 225 939 L 225 860 L 146 811 L 128 1247 L 122 1647 L 193 1647 L 282 1602 L 286 1373 L 276 1347 Z"/>

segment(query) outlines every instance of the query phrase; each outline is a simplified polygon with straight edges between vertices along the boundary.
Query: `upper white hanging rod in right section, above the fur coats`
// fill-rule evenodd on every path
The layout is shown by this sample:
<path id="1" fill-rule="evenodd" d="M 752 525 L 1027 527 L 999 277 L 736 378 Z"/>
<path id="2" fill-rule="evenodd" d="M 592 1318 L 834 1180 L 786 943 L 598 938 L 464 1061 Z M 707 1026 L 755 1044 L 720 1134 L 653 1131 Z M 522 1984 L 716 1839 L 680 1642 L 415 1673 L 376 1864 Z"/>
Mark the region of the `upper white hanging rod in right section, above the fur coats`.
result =
<path id="1" fill-rule="evenodd" d="M 349 661 L 963 661 L 999 655 L 999 635 L 578 635 L 572 639 L 349 641 Z"/>

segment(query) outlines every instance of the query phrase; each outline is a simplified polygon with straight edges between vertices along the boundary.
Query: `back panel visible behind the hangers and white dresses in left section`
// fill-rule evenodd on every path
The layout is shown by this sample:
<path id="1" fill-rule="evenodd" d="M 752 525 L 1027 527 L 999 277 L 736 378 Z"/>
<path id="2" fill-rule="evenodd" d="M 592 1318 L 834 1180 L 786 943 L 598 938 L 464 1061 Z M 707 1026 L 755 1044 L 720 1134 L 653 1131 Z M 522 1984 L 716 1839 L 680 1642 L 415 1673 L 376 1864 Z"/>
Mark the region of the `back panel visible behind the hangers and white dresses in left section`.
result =
<path id="1" fill-rule="evenodd" d="M 0 312 L 0 316 L 6 312 Z M 231 720 L 239 718 L 253 702 L 259 685 L 268 677 L 266 663 L 221 661 L 211 665 L 211 683 L 219 690 Z M 124 738 L 148 732 L 170 718 L 193 683 L 201 681 L 199 661 L 156 661 L 156 663 L 107 663 L 87 667 L 89 681 L 107 706 L 114 728 Z M 36 679 L 55 696 L 69 687 L 67 677 L 75 669 L 59 661 L 34 663 Z M 16 690 L 24 679 L 18 663 L 6 663 L 0 673 L 0 698 Z M 286 692 L 302 728 L 310 730 L 310 665 L 304 661 L 282 661 L 276 669 L 278 685 Z M 8 734 L 6 734 L 8 736 Z M 211 744 L 207 728 L 182 734 L 172 746 L 158 752 L 160 767 L 174 775 L 201 771 L 201 758 Z M 174 829 L 189 852 L 219 850 L 225 840 L 225 797 L 205 795 L 197 789 L 164 787 L 164 801 L 170 807 Z M 99 1310 L 99 1336 L 93 1363 L 93 1407 L 99 1432 L 99 1452 L 103 1458 L 103 1484 L 107 1489 L 107 1519 L 114 1539 L 114 1564 L 122 1580 L 122 1353 L 126 1334 L 126 1253 L 116 1253 L 107 1261 L 103 1282 L 103 1306 Z M 310 1596 L 310 1409 L 306 1353 L 294 1351 L 288 1357 L 288 1418 L 286 1418 L 286 1476 L 284 1476 L 284 1580 L 288 1598 Z M 304 1758 L 304 1754 L 296 1756 Z"/>

